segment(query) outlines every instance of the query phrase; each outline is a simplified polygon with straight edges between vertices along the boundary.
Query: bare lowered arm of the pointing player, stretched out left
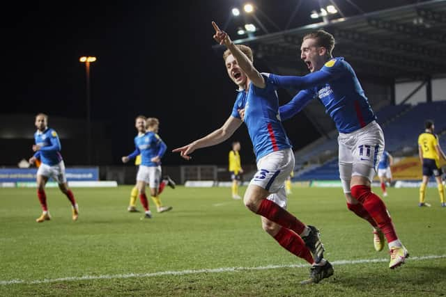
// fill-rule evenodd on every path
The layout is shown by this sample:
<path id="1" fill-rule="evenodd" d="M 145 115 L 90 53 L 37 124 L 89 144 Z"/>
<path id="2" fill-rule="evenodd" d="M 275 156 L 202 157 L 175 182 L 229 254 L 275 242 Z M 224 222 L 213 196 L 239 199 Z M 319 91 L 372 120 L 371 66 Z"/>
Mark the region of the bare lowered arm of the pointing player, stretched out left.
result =
<path id="1" fill-rule="evenodd" d="M 236 131 L 236 129 L 238 129 L 238 127 L 240 127 L 241 124 L 242 121 L 239 118 L 234 118 L 231 115 L 219 129 L 188 145 L 178 147 L 175 150 L 172 150 L 172 152 L 180 152 L 180 156 L 186 160 L 189 160 L 189 154 L 192 154 L 194 150 L 201 147 L 210 147 L 226 141 L 226 139 L 231 137 L 231 135 Z"/>

